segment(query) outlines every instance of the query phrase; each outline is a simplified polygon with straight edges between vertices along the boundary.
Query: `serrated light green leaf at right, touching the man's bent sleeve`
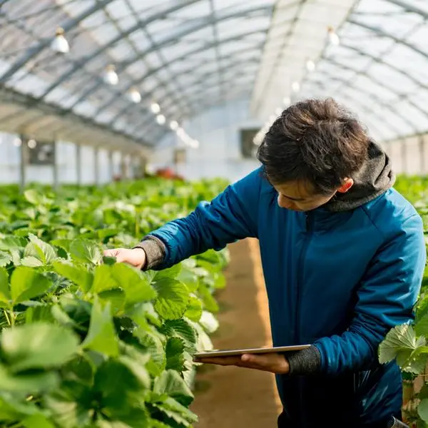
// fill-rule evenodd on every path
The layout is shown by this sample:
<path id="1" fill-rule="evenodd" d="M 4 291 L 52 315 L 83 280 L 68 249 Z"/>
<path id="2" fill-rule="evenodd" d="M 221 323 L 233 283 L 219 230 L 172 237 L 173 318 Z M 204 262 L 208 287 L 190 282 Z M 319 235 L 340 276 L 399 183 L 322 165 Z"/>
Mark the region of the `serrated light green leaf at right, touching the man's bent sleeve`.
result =
<path id="1" fill-rule="evenodd" d="M 424 344 L 424 337 L 417 340 L 411 325 L 398 325 L 388 332 L 387 337 L 379 345 L 379 362 L 386 364 L 397 357 L 401 357 L 400 362 L 404 362 L 413 350 Z M 400 352 L 406 353 L 400 355 Z"/>

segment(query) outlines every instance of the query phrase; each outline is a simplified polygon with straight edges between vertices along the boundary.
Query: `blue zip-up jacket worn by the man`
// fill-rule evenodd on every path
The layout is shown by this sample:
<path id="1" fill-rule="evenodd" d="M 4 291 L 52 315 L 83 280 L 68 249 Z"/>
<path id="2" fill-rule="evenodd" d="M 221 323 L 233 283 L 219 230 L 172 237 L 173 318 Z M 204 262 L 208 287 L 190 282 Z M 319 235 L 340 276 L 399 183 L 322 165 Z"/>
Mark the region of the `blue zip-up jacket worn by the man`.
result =
<path id="1" fill-rule="evenodd" d="M 426 250 L 422 219 L 396 190 L 349 210 L 301 213 L 280 208 L 255 170 L 151 235 L 166 248 L 157 269 L 258 238 L 273 344 L 314 344 L 321 355 L 319 374 L 277 376 L 290 427 L 312 428 L 322 417 L 330 427 L 332 419 L 360 427 L 400 412 L 399 367 L 379 365 L 377 348 L 412 319 Z"/>

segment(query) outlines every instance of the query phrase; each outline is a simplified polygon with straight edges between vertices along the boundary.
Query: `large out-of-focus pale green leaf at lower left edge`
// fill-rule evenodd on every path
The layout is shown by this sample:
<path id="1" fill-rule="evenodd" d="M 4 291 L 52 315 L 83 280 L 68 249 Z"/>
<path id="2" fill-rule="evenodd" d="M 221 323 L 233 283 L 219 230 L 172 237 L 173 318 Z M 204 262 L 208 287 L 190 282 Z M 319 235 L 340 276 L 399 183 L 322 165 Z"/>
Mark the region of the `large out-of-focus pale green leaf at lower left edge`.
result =
<path id="1" fill-rule="evenodd" d="M 78 338 L 59 325 L 36 322 L 3 330 L 1 350 L 14 372 L 58 367 L 78 351 Z"/>

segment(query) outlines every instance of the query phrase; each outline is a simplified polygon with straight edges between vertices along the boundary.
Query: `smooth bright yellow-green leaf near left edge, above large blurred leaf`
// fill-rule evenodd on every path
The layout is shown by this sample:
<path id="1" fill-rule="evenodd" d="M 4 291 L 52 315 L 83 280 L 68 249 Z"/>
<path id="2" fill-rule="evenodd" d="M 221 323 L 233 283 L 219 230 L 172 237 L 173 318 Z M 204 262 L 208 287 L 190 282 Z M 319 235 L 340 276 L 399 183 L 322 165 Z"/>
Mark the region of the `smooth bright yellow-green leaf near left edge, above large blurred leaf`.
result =
<path id="1" fill-rule="evenodd" d="M 11 276 L 11 297 L 14 304 L 44 294 L 51 287 L 47 277 L 31 269 L 16 267 Z"/>

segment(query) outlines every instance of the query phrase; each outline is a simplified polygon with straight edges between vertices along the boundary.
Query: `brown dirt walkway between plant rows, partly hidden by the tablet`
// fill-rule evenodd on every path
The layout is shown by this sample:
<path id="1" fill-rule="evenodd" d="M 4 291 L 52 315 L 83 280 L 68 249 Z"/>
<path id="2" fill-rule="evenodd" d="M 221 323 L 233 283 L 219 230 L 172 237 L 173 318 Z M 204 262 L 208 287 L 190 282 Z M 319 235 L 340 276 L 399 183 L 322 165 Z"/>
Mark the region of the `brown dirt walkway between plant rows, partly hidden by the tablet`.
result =
<path id="1" fill-rule="evenodd" d="M 230 245 L 228 286 L 218 293 L 220 328 L 214 347 L 271 346 L 269 312 L 258 242 Z M 206 365 L 197 377 L 195 428 L 275 428 L 280 411 L 273 374 Z"/>

